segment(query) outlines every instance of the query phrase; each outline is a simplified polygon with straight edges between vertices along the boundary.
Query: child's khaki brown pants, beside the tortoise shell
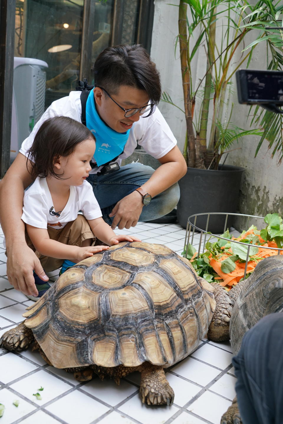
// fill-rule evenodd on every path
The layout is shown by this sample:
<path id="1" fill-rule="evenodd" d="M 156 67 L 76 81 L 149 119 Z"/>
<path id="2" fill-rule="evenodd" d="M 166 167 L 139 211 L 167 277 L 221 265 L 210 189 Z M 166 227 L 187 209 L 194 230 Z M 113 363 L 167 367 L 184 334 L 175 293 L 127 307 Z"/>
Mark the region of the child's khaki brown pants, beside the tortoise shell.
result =
<path id="1" fill-rule="evenodd" d="M 95 242 L 95 236 L 93 235 L 89 223 L 83 215 L 78 215 L 74 221 L 68 222 L 64 228 L 56 230 L 50 226 L 47 227 L 47 231 L 51 240 L 59 241 L 60 243 L 81 247 L 81 243 L 84 240 L 92 239 L 91 244 Z M 36 251 L 31 239 L 28 237 L 27 232 L 25 233 L 26 242 L 36 256 L 39 258 L 42 268 L 45 272 L 54 271 L 62 266 L 64 259 L 56 259 L 48 256 L 44 256 Z"/>

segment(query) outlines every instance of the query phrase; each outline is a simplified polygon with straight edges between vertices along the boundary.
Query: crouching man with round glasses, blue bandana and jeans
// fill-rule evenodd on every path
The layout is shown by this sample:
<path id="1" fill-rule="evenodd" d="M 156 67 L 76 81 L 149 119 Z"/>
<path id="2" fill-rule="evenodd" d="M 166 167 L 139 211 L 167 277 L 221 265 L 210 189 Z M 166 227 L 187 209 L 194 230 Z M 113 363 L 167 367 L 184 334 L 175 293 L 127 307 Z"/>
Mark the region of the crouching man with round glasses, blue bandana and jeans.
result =
<path id="1" fill-rule="evenodd" d="M 156 109 L 161 97 L 159 73 L 140 45 L 107 47 L 93 66 L 95 88 L 86 104 L 86 125 L 97 140 L 88 181 L 103 218 L 119 229 L 135 226 L 170 212 L 179 200 L 177 181 L 187 166 L 177 141 Z M 24 140 L 0 183 L 0 221 L 6 237 L 7 276 L 16 290 L 37 296 L 33 270 L 43 281 L 48 277 L 39 259 L 25 243 L 22 199 L 31 184 L 26 157 L 37 128 L 49 117 L 64 115 L 81 122 L 81 92 L 56 100 Z M 157 170 L 134 163 L 120 167 L 137 143 L 159 160 Z M 103 173 L 105 164 L 114 171 Z M 119 169 L 120 167 L 120 169 Z M 151 201 L 152 198 L 152 201 Z M 6 205 L 9 205 L 7 213 Z"/>

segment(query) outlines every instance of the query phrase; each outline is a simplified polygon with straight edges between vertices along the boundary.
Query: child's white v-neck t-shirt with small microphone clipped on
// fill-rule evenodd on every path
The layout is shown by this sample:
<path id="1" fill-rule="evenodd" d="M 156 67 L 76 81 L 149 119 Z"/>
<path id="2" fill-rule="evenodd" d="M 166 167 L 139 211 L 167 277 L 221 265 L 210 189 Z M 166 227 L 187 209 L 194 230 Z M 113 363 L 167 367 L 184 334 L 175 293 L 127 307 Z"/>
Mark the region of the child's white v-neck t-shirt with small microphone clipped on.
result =
<path id="1" fill-rule="evenodd" d="M 59 217 L 49 213 L 52 206 L 53 201 L 46 178 L 37 177 L 34 184 L 25 192 L 22 220 L 36 228 L 47 229 L 47 226 L 50 226 L 60 229 L 75 220 L 80 210 L 87 220 L 102 216 L 92 186 L 87 181 L 81 186 L 70 186 L 69 199 Z"/>

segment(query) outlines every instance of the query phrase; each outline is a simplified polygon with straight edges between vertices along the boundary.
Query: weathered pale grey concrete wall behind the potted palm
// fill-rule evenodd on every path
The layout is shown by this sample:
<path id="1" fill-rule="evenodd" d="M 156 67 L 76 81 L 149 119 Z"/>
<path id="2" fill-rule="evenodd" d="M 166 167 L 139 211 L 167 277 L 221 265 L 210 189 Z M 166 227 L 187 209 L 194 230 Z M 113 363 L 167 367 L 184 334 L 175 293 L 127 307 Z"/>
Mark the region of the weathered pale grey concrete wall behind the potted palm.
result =
<path id="1" fill-rule="evenodd" d="M 171 6 L 167 0 L 155 0 L 154 26 L 152 34 L 151 57 L 160 70 L 163 91 L 170 94 L 174 103 L 183 109 L 182 79 L 179 60 L 179 45 L 175 43 L 178 34 L 178 7 Z M 179 0 L 171 0 L 171 4 L 178 5 Z M 252 31 L 251 31 L 252 37 Z M 248 39 L 245 43 L 247 45 Z M 193 70 L 195 81 L 198 82 L 200 75 L 206 66 L 205 53 L 196 58 Z M 240 60 L 241 53 L 235 58 L 235 63 Z M 250 68 L 266 69 L 265 44 L 261 43 L 255 50 Z M 244 68 L 244 64 L 242 65 Z M 236 93 L 235 79 L 233 91 Z M 239 105 L 236 94 L 231 95 L 230 102 L 234 102 L 233 121 L 241 128 L 248 129 L 246 123 L 249 106 Z M 179 148 L 183 149 L 185 140 L 185 116 L 176 107 L 161 102 L 160 110 L 171 127 L 178 140 Z M 283 214 L 283 164 L 278 165 L 278 156 L 271 159 L 268 143 L 265 141 L 255 158 L 255 149 L 259 137 L 250 136 L 243 138 L 237 149 L 230 152 L 226 160 L 227 164 L 243 166 L 246 168 L 242 179 L 240 192 L 239 212 L 250 215 L 264 216 L 267 213 L 279 212 Z"/>

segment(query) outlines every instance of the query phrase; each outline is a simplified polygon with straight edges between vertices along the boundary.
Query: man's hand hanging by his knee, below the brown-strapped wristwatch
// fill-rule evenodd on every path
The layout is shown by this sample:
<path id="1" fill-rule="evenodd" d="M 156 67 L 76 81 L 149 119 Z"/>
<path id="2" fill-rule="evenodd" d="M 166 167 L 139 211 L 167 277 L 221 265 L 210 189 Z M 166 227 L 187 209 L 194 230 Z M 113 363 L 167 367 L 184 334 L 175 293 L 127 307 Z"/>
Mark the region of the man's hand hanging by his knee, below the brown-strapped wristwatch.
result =
<path id="1" fill-rule="evenodd" d="M 119 230 L 122 230 L 123 228 L 129 229 L 136 226 L 142 210 L 142 197 L 140 193 L 133 191 L 131 194 L 118 201 L 109 214 L 111 218 L 115 216 L 111 228 L 115 229 L 118 226 Z"/>

